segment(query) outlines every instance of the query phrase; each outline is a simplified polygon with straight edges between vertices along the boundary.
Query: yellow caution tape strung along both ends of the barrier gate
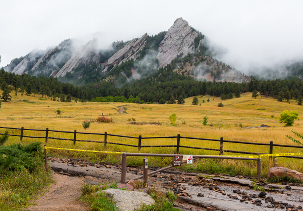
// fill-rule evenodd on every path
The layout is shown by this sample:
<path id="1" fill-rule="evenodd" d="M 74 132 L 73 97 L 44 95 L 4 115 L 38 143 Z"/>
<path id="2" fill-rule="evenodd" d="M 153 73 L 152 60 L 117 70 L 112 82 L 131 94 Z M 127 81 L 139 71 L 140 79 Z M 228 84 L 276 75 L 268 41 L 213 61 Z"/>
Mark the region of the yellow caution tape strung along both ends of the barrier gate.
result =
<path id="1" fill-rule="evenodd" d="M 66 148 L 56 148 L 56 147 L 46 147 L 46 149 L 63 149 L 63 150 L 69 150 L 69 151 L 87 151 L 87 152 L 98 152 L 98 153 L 108 153 L 108 154 L 123 154 L 123 152 L 119 151 L 96 151 L 96 150 L 84 150 L 84 149 L 66 149 Z M 222 157 L 245 157 L 245 158 L 261 158 L 261 157 L 272 157 L 272 156 L 295 156 L 295 155 L 303 155 L 303 152 L 297 152 L 297 153 L 277 153 L 277 154 L 258 154 L 258 155 L 205 155 L 205 156 L 222 156 Z"/>

